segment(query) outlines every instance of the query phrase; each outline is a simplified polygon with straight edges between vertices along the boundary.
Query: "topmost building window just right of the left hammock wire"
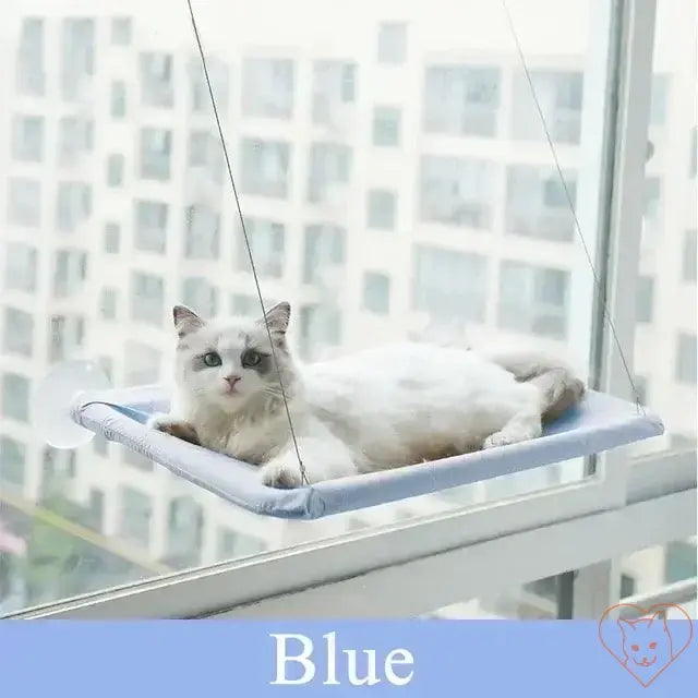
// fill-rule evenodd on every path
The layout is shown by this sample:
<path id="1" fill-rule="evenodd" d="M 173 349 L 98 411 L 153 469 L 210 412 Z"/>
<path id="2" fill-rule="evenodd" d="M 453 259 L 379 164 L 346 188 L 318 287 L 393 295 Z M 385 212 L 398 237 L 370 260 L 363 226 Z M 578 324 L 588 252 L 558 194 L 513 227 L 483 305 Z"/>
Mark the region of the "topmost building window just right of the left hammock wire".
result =
<path id="1" fill-rule="evenodd" d="M 293 61 L 245 58 L 242 62 L 242 115 L 290 119 L 293 87 Z"/>

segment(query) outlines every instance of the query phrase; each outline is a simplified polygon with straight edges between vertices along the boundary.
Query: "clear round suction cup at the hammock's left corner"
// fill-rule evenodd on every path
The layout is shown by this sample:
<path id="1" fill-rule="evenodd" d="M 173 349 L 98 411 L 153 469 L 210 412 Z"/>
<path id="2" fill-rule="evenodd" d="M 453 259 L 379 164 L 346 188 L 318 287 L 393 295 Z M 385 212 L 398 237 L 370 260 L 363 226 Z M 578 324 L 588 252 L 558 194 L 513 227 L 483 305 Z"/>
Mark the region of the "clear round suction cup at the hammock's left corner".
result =
<path id="1" fill-rule="evenodd" d="M 72 418 L 76 398 L 109 389 L 109 378 L 95 361 L 73 359 L 53 366 L 34 395 L 34 425 L 53 448 L 76 448 L 94 433 Z"/>

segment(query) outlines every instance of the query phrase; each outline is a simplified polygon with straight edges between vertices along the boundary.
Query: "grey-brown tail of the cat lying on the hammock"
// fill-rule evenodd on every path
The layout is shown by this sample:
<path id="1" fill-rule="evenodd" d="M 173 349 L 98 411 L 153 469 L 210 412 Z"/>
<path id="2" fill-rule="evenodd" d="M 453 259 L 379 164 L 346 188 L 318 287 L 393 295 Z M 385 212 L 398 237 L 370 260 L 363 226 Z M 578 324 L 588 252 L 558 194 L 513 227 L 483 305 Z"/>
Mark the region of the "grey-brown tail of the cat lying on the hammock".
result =
<path id="1" fill-rule="evenodd" d="M 513 373 L 517 381 L 539 388 L 543 423 L 555 421 L 585 396 L 585 384 L 574 370 L 550 354 L 521 350 L 492 352 L 488 358 Z"/>

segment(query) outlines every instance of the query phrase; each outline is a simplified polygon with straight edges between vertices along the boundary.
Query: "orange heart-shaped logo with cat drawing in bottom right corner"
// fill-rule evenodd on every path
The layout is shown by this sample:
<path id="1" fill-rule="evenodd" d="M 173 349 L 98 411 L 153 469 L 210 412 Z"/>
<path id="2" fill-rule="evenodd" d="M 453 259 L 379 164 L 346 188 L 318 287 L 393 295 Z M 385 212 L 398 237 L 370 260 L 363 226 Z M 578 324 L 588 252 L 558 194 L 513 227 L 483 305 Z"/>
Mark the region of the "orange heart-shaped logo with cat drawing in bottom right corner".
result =
<path id="1" fill-rule="evenodd" d="M 670 610 L 676 618 L 671 624 L 666 621 Z M 634 619 L 618 617 L 624 611 L 633 611 Z M 646 688 L 686 650 L 693 634 L 689 615 L 672 603 L 647 610 L 618 603 L 599 621 L 601 645 Z"/>

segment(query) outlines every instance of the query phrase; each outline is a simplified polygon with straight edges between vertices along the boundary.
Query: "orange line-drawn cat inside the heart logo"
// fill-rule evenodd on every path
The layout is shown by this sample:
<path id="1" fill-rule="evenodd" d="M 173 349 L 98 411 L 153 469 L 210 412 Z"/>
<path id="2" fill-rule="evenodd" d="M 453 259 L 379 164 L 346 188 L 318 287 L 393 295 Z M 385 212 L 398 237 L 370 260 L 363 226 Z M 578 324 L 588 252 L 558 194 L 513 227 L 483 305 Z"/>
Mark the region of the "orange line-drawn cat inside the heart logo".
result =
<path id="1" fill-rule="evenodd" d="M 637 621 L 621 618 L 618 626 L 623 631 L 624 666 L 648 684 L 674 657 L 665 613 L 657 611 Z"/>

